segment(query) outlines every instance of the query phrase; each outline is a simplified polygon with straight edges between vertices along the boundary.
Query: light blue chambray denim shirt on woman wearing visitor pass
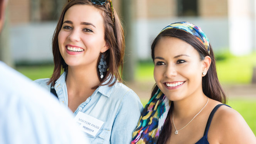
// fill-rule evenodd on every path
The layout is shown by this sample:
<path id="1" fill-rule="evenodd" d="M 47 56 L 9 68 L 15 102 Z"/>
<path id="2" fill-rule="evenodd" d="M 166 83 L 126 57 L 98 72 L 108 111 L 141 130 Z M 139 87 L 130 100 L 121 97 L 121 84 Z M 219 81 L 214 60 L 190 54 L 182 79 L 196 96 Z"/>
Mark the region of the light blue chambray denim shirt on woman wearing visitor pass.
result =
<path id="1" fill-rule="evenodd" d="M 49 92 L 49 79 L 35 80 Z M 59 101 L 68 108 L 66 72 L 56 81 L 54 86 Z M 96 136 L 86 134 L 90 144 L 130 144 L 132 132 L 138 124 L 143 105 L 133 90 L 120 82 L 109 87 L 99 86 L 93 94 L 80 104 L 74 116 L 81 111 L 104 122 Z"/>

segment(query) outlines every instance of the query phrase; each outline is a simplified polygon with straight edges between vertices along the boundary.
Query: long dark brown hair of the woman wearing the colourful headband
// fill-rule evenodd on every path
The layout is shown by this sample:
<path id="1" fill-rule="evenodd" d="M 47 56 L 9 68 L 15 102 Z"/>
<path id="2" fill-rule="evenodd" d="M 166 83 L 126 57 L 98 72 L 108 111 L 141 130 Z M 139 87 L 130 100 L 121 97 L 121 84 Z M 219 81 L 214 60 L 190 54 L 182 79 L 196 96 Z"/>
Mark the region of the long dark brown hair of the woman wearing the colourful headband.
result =
<path id="1" fill-rule="evenodd" d="M 200 60 L 204 60 L 205 56 L 211 57 L 211 65 L 207 71 L 207 74 L 202 77 L 202 89 L 204 94 L 214 100 L 217 100 L 219 102 L 222 102 L 223 104 L 226 103 L 226 94 L 224 90 L 221 87 L 221 84 L 219 83 L 218 77 L 217 77 L 217 71 L 216 71 L 216 62 L 214 59 L 214 54 L 212 50 L 212 46 L 210 45 L 210 53 L 205 49 L 205 46 L 197 40 L 192 34 L 185 32 L 184 30 L 180 30 L 177 28 L 171 28 L 164 30 L 161 32 L 154 40 L 151 46 L 151 56 L 154 62 L 155 59 L 155 46 L 157 45 L 158 41 L 162 39 L 163 37 L 175 37 L 180 40 L 183 40 L 190 44 L 192 47 L 194 47 L 195 50 L 200 55 Z M 157 92 L 158 86 L 155 84 L 155 86 L 152 89 L 151 97 Z M 165 123 L 163 125 L 162 132 L 158 138 L 157 144 L 165 144 L 168 139 L 170 139 L 170 133 L 172 132 L 172 126 L 170 121 L 170 115 L 173 111 L 173 102 L 170 107 L 170 110 L 168 112 L 167 118 L 165 120 Z"/>

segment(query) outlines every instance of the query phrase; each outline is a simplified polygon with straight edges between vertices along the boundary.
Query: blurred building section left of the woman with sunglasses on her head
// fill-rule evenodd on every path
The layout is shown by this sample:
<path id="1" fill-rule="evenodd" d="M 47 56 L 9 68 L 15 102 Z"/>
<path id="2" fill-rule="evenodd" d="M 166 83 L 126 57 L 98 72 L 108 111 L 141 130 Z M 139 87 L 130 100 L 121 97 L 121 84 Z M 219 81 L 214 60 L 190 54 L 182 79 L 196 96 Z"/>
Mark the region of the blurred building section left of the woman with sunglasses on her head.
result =
<path id="1" fill-rule="evenodd" d="M 15 63 L 52 61 L 51 39 L 66 0 L 9 0 L 9 47 Z"/>

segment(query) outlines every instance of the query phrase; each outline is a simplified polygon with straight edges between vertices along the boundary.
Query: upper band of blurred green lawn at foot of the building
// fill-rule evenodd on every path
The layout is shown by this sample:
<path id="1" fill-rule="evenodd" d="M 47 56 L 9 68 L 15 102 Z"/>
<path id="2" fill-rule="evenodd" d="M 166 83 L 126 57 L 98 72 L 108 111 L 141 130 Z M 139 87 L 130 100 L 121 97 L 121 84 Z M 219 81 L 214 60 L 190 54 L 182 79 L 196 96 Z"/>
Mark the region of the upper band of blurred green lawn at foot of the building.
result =
<path id="1" fill-rule="evenodd" d="M 224 56 L 223 56 L 224 55 Z M 216 63 L 219 80 L 222 84 L 249 84 L 256 67 L 256 52 L 241 57 L 223 54 Z M 223 58 L 224 57 L 224 58 Z M 17 70 L 32 80 L 51 77 L 53 65 L 17 67 Z M 154 80 L 154 64 L 151 61 L 139 62 L 135 69 L 135 80 Z"/>

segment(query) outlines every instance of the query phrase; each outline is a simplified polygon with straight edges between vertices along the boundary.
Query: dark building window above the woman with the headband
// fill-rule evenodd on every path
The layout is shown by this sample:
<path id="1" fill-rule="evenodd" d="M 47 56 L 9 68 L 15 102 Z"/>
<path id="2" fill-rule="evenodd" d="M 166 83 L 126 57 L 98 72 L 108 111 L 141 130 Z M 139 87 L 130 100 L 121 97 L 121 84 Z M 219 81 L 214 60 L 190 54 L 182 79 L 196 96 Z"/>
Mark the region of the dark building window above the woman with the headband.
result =
<path id="1" fill-rule="evenodd" d="M 177 0 L 178 16 L 198 16 L 198 0 Z"/>

